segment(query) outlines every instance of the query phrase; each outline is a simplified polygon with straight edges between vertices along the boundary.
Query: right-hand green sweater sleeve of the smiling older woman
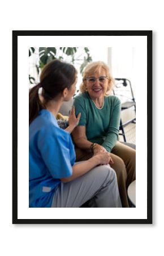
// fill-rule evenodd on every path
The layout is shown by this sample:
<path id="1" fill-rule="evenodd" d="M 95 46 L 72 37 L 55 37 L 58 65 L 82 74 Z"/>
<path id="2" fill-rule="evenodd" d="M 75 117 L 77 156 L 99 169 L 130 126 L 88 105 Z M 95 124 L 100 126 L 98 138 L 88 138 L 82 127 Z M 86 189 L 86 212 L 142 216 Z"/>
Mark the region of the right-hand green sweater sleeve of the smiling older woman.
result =
<path id="1" fill-rule="evenodd" d="M 111 117 L 109 127 L 107 129 L 105 141 L 102 143 L 102 146 L 110 152 L 115 146 L 115 143 L 118 139 L 119 133 L 119 123 L 120 123 L 120 100 L 115 97 L 113 101 L 113 109 L 111 110 Z"/>

